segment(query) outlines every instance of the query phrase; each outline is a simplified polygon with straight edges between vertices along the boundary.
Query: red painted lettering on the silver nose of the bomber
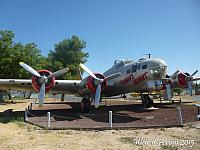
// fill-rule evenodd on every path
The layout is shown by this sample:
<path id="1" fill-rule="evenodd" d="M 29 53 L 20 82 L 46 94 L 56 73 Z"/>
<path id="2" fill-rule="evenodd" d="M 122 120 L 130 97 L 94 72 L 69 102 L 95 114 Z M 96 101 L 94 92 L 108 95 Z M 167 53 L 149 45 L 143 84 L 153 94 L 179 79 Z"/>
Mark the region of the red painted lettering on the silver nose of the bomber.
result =
<path id="1" fill-rule="evenodd" d="M 145 72 L 144 74 L 138 76 L 137 78 L 133 77 L 133 74 L 129 75 L 128 77 L 124 78 L 123 80 L 121 80 L 121 84 L 122 85 L 126 85 L 129 82 L 133 82 L 135 85 L 140 84 L 142 81 L 145 81 L 147 79 L 147 73 Z"/>

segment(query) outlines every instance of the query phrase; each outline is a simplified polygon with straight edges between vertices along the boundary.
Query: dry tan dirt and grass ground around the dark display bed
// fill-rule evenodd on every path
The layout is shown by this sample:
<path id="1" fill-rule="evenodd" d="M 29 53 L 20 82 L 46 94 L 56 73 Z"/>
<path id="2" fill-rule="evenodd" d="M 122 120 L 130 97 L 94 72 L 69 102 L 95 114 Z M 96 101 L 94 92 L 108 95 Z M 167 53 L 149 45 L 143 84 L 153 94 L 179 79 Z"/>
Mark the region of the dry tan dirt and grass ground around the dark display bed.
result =
<path id="1" fill-rule="evenodd" d="M 24 111 L 29 102 L 0 104 L 0 113 L 7 109 Z M 0 150 L 7 149 L 199 150 L 200 123 L 182 128 L 78 131 L 43 130 L 20 120 L 4 122 L 0 118 Z"/>

